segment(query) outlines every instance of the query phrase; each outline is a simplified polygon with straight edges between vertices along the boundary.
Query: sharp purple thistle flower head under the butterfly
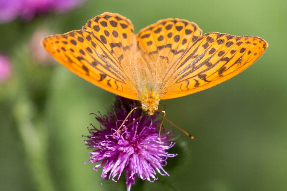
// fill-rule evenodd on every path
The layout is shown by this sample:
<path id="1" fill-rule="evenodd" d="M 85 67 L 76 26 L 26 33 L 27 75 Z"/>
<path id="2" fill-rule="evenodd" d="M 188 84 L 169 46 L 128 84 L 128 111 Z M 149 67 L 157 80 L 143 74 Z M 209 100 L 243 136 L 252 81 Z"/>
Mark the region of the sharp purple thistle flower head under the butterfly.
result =
<path id="1" fill-rule="evenodd" d="M 161 175 L 169 174 L 163 169 L 167 164 L 168 157 L 174 157 L 177 154 L 169 154 L 167 149 L 174 146 L 171 141 L 174 132 L 172 130 L 161 134 L 161 141 L 158 135 L 158 120 L 156 115 L 142 115 L 140 109 L 136 109 L 127 119 L 122 129 L 115 134 L 113 133 L 120 127 L 123 120 L 129 113 L 130 107 L 128 99 L 119 97 L 120 107 L 113 107 L 113 112 L 109 115 L 96 116 L 100 122 L 100 129 L 89 129 L 91 135 L 85 140 L 88 148 L 96 150 L 89 152 L 90 163 L 98 163 L 94 170 L 103 167 L 102 177 L 105 179 L 120 178 L 125 171 L 127 191 L 135 184 L 135 178 L 154 182 L 156 172 Z M 132 107 L 136 107 L 134 102 Z M 102 126 L 105 128 L 103 129 Z M 170 132 L 172 133 L 170 134 Z M 170 135 L 169 135 L 170 134 Z M 87 163 L 87 162 L 86 162 Z M 85 164 L 86 164 L 85 163 Z M 100 183 L 102 184 L 102 182 Z"/>

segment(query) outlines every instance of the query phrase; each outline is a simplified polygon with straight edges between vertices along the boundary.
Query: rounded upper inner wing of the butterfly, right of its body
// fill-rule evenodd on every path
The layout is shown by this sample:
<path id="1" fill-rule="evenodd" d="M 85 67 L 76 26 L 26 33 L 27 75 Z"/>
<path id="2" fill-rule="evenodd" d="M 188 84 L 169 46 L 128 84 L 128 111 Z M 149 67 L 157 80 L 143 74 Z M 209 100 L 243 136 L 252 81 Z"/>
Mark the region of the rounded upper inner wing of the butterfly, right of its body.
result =
<path id="1" fill-rule="evenodd" d="M 172 75 L 172 68 L 201 34 L 202 30 L 195 23 L 180 19 L 160 20 L 142 29 L 137 41 L 147 66 L 140 64 L 141 70 L 148 68 L 156 84 L 167 86 L 165 82 Z M 148 73 L 147 69 L 144 73 Z"/>

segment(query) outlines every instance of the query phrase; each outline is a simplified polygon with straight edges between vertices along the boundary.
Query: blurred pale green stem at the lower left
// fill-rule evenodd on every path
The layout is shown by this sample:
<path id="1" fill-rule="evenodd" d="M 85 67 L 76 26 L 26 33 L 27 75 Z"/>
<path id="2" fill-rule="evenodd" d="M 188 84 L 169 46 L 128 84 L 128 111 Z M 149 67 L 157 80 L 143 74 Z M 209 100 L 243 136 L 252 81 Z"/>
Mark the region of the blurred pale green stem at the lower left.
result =
<path id="1" fill-rule="evenodd" d="M 33 105 L 25 97 L 17 101 L 14 114 L 17 122 L 17 128 L 22 138 L 30 170 L 36 189 L 41 191 L 54 191 L 54 184 L 47 160 L 47 139 L 45 139 L 44 123 L 37 123 L 37 127 L 31 121 L 33 117 Z M 42 127 L 41 127 L 42 126 Z"/>

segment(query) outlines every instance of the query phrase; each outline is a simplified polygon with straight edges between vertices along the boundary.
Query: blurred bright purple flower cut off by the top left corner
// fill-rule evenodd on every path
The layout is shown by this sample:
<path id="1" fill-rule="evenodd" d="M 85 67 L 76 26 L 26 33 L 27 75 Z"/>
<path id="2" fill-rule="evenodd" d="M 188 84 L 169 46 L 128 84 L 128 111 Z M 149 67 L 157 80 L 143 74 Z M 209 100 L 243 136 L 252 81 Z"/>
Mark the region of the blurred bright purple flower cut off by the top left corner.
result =
<path id="1" fill-rule="evenodd" d="M 12 21 L 20 16 L 31 20 L 36 14 L 49 11 L 65 12 L 73 9 L 84 0 L 0 0 L 0 23 Z"/>

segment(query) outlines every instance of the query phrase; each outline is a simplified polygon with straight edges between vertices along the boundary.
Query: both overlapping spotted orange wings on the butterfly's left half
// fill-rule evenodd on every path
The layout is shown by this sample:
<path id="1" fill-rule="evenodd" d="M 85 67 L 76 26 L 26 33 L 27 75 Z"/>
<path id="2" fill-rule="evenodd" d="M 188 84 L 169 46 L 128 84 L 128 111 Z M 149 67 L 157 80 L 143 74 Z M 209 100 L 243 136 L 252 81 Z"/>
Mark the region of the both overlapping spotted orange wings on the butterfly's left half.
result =
<path id="1" fill-rule="evenodd" d="M 83 30 L 54 35 L 42 41 L 62 65 L 87 81 L 119 96 L 139 100 L 131 76 L 134 32 L 123 16 L 103 13 Z"/>

